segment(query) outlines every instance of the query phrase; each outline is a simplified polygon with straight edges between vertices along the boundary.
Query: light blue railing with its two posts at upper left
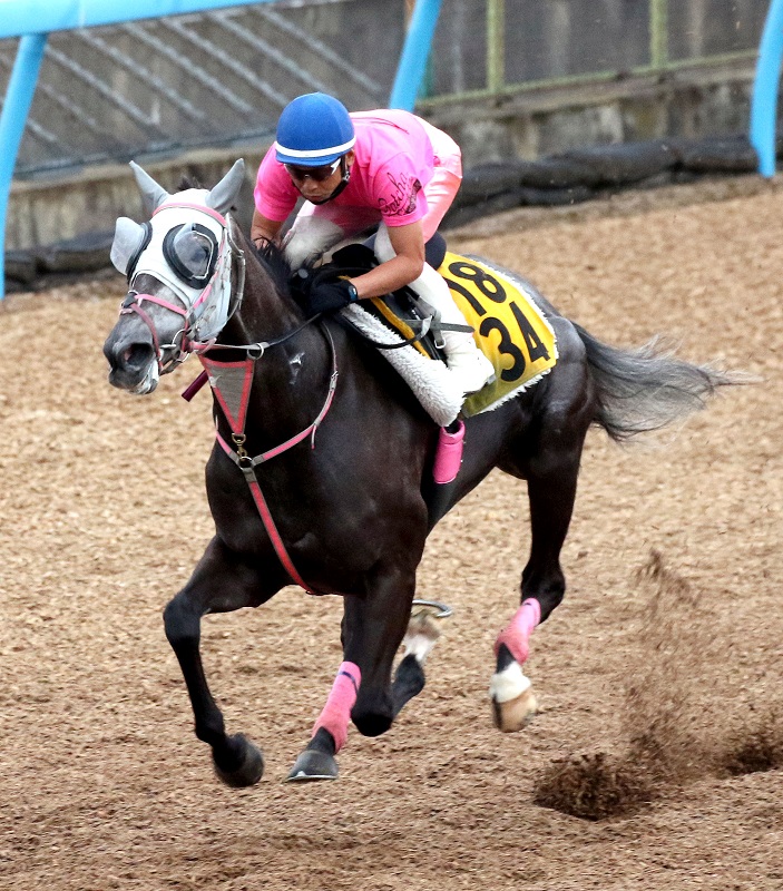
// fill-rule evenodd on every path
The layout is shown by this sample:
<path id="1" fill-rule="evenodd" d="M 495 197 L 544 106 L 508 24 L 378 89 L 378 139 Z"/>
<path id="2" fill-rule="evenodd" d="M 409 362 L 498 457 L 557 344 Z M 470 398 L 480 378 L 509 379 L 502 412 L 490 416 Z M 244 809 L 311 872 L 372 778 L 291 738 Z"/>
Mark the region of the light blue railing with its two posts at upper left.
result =
<path id="1" fill-rule="evenodd" d="M 6 294 L 6 219 L 13 168 L 51 31 L 157 19 L 275 0 L 0 0 L 0 39 L 20 37 L 0 112 L 0 301 Z M 413 109 L 441 0 L 417 0 L 392 87 L 390 106 Z"/>

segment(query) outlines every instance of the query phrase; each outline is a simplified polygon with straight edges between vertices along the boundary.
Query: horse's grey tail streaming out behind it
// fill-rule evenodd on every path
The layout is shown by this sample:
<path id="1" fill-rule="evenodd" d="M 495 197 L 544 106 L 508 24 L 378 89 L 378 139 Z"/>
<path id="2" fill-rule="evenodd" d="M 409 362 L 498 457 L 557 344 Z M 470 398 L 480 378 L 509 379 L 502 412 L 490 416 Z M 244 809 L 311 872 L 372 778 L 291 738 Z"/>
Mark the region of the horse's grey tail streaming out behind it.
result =
<path id="1" fill-rule="evenodd" d="M 598 394 L 594 423 L 616 442 L 659 430 L 703 409 L 718 386 L 738 378 L 674 358 L 655 337 L 638 350 L 601 343 L 580 325 L 574 326 L 587 350 Z"/>

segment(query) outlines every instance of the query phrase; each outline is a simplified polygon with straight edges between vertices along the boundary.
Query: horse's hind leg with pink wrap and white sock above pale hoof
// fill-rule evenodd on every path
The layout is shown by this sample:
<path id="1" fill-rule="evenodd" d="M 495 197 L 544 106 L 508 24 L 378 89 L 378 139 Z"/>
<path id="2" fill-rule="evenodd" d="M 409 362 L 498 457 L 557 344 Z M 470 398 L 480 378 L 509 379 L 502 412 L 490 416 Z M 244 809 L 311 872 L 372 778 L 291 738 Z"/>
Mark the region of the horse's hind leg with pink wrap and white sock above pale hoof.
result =
<path id="1" fill-rule="evenodd" d="M 496 726 L 509 733 L 521 730 L 536 713 L 536 697 L 521 666 L 528 658 L 532 629 L 558 606 L 566 591 L 560 550 L 574 511 L 586 415 L 583 411 L 570 422 L 542 423 L 538 449 L 523 462 L 530 502 L 530 558 L 522 572 L 521 606 L 496 642 L 497 664 L 490 683 Z"/>

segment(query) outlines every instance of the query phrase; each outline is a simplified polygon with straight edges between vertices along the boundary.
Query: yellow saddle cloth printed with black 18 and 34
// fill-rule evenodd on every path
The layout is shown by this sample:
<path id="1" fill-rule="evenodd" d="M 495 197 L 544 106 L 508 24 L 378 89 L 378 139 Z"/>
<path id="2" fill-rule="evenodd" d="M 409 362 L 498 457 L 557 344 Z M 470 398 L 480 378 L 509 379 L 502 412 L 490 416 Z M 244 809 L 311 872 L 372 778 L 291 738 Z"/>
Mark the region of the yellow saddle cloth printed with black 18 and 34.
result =
<path id="1" fill-rule="evenodd" d="M 464 417 L 497 409 L 551 371 L 558 359 L 555 332 L 521 282 L 486 261 L 451 253 L 438 272 L 495 365 L 495 382 L 466 400 Z"/>

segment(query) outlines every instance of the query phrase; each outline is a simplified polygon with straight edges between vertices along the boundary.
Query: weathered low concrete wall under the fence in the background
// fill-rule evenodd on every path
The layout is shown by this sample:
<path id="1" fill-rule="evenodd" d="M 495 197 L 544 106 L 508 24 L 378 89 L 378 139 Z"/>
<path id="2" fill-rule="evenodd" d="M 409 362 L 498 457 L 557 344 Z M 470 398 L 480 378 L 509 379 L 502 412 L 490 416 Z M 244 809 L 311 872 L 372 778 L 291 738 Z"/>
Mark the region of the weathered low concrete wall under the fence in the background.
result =
<path id="1" fill-rule="evenodd" d="M 679 71 L 665 79 L 627 78 L 577 89 L 528 91 L 489 105 L 427 105 L 421 114 L 461 144 L 464 167 L 513 158 L 536 159 L 574 147 L 632 143 L 663 136 L 698 139 L 747 133 L 753 67 L 747 62 Z M 248 172 L 239 215 L 248 223 L 257 165 L 270 140 L 199 150 L 145 165 L 169 190 L 180 176 L 212 186 L 239 156 Z M 144 158 L 139 161 L 144 164 Z M 88 167 L 74 176 L 16 182 L 7 249 L 51 245 L 114 228 L 117 216 L 141 219 L 126 165 Z"/>

